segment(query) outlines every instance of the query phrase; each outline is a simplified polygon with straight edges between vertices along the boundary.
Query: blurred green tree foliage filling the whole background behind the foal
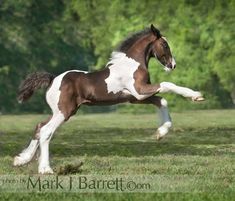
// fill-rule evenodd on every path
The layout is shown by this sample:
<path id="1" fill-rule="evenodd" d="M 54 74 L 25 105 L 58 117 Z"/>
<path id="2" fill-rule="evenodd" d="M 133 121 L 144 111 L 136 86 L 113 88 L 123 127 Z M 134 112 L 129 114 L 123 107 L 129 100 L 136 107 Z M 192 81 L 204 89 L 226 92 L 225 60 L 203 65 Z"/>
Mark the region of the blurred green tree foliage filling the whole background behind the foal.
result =
<path id="1" fill-rule="evenodd" d="M 231 107 L 234 9 L 234 0 L 2 1 L 0 111 L 47 111 L 41 93 L 27 106 L 17 104 L 17 87 L 26 74 L 103 68 L 120 41 L 151 23 L 167 37 L 177 62 L 176 70 L 166 74 L 152 59 L 152 82 L 172 81 L 202 91 L 207 99 L 195 105 L 170 95 L 170 106 L 177 110 Z"/>

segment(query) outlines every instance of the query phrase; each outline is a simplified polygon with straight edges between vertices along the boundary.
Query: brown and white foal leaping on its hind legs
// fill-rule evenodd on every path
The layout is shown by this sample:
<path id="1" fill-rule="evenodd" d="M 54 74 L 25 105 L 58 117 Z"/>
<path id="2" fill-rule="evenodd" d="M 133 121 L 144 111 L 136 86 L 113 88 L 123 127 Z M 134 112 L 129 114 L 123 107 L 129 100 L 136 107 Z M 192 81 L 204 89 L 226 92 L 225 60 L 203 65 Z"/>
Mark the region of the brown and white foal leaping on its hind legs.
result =
<path id="1" fill-rule="evenodd" d="M 35 72 L 19 87 L 19 102 L 25 102 L 39 88 L 46 88 L 46 101 L 52 115 L 37 124 L 28 147 L 14 157 L 14 166 L 30 162 L 40 148 L 39 174 L 53 174 L 49 162 L 49 142 L 56 129 L 69 120 L 81 105 L 152 104 L 159 108 L 161 124 L 156 131 L 159 140 L 172 127 L 167 101 L 156 96 L 173 92 L 193 101 L 204 100 L 202 94 L 170 82 L 152 84 L 148 71 L 149 60 L 155 57 L 165 71 L 176 68 L 167 39 L 154 25 L 137 32 L 112 52 L 105 68 L 96 72 L 69 70 L 58 76 Z"/>

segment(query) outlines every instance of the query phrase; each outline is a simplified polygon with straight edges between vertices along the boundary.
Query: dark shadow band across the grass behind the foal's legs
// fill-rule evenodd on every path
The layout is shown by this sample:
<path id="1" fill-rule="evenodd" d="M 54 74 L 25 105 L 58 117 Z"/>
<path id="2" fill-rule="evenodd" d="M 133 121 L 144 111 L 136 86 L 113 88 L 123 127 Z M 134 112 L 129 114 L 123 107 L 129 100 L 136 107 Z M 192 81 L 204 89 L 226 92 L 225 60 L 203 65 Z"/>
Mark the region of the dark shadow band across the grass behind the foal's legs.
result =
<path id="1" fill-rule="evenodd" d="M 175 129 L 161 141 L 152 137 L 154 131 L 102 128 L 71 131 L 68 135 L 59 132 L 52 140 L 50 149 L 53 156 L 58 157 L 235 155 L 235 128 Z M 0 136 L 0 156 L 18 154 L 29 142 L 28 136 L 18 136 L 16 133 L 8 137 Z"/>

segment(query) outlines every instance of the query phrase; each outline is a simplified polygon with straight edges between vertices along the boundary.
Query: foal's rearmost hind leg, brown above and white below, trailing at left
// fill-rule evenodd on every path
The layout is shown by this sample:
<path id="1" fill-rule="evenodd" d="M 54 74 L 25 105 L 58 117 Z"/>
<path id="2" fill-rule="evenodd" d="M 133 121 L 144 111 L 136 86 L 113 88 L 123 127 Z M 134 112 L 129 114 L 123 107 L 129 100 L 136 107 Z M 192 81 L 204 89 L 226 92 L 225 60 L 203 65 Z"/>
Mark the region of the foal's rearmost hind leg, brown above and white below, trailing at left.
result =
<path id="1" fill-rule="evenodd" d="M 48 121 L 50 119 L 51 119 L 51 117 L 49 117 L 46 121 L 37 124 L 37 126 L 35 128 L 34 136 L 33 136 L 32 140 L 30 141 L 28 147 L 26 149 L 24 149 L 20 154 L 15 156 L 14 162 L 13 162 L 14 166 L 24 165 L 26 163 L 29 163 L 33 159 L 33 157 L 38 149 L 38 146 L 39 146 L 40 130 L 45 124 L 48 123 Z"/>

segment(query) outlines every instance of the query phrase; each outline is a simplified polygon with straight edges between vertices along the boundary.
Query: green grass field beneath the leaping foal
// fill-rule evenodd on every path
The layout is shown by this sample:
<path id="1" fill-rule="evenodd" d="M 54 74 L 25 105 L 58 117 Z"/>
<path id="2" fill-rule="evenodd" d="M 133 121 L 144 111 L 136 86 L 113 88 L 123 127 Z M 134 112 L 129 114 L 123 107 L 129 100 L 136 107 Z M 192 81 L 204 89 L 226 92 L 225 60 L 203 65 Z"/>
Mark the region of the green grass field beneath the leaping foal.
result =
<path id="1" fill-rule="evenodd" d="M 45 115 L 0 116 L 0 174 L 37 174 L 37 161 L 15 168 L 12 157 L 29 142 Z M 2 193 L 4 200 L 234 200 L 235 110 L 172 113 L 174 127 L 161 141 L 153 138 L 155 114 L 78 114 L 64 124 L 50 144 L 51 165 L 58 172 L 82 161 L 77 175 L 184 175 L 183 191 L 155 193 Z M 193 178 L 200 177 L 200 183 Z M 173 179 L 172 179 L 173 181 Z M 184 182 L 184 183 L 183 183 Z M 201 186 L 200 186 L 201 185 Z M 175 188 L 174 186 L 174 189 Z M 190 190 L 189 190 L 190 189 Z M 202 191 L 193 191 L 201 189 Z"/>

